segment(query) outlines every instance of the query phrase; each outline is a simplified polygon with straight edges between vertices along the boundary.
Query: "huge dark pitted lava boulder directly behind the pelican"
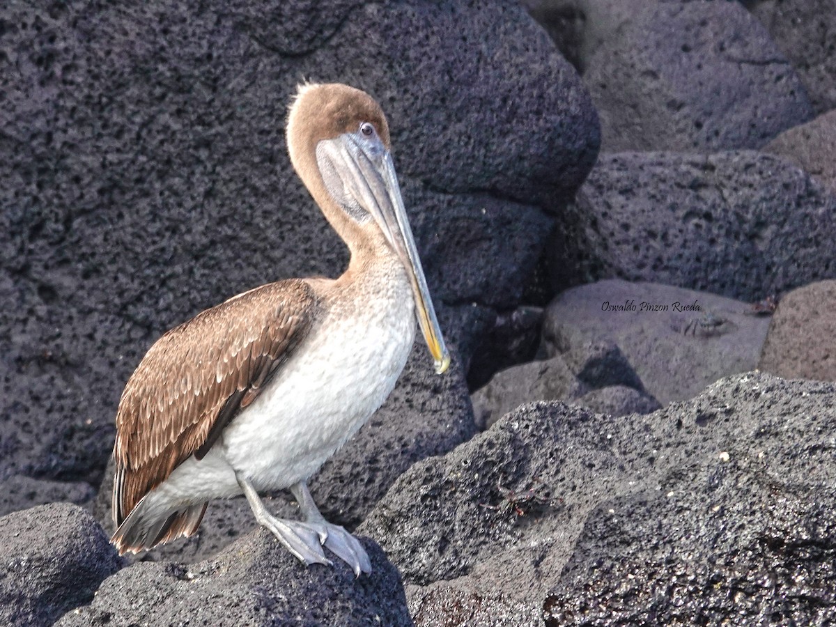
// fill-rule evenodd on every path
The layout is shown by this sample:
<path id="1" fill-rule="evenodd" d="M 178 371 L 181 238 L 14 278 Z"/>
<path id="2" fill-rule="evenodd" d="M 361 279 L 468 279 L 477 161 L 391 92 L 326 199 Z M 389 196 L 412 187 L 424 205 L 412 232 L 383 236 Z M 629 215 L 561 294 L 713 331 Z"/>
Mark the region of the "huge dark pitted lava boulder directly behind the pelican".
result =
<path id="1" fill-rule="evenodd" d="M 537 205 L 573 195 L 599 142 L 579 77 L 522 8 L 6 3 L 0 476 L 97 482 L 120 391 L 163 331 L 344 268 L 286 155 L 302 77 L 380 100 L 440 307 L 517 305 L 552 222 Z"/>

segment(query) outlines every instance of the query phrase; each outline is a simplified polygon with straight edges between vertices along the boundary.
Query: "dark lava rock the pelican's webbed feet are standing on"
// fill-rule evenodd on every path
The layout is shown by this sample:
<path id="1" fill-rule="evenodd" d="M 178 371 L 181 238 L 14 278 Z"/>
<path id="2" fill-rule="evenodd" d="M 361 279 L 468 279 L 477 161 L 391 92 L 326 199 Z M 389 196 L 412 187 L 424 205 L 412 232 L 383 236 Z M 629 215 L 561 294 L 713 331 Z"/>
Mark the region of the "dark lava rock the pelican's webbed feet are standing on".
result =
<path id="1" fill-rule="evenodd" d="M 361 541 L 373 572 L 359 578 L 339 560 L 306 568 L 264 529 L 211 561 L 135 563 L 57 624 L 411 625 L 397 571 L 380 547 Z"/>

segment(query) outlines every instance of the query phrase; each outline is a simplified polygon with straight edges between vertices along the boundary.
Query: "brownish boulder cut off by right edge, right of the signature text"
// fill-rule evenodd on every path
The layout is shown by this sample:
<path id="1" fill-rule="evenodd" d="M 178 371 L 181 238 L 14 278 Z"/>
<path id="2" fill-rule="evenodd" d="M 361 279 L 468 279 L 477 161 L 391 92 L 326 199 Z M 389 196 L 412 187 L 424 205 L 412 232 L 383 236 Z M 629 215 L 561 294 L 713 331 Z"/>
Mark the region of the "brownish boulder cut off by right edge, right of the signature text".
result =
<path id="1" fill-rule="evenodd" d="M 786 294 L 769 325 L 757 367 L 785 379 L 836 381 L 836 281 Z"/>

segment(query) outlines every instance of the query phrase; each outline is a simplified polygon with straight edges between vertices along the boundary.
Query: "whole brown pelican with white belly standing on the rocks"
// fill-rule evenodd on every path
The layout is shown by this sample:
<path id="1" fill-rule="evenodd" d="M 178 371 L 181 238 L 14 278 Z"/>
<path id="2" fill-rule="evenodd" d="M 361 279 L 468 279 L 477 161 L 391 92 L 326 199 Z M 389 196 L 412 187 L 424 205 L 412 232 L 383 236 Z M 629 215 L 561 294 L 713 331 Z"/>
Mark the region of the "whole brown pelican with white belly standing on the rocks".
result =
<path id="1" fill-rule="evenodd" d="M 325 521 L 306 482 L 383 404 L 415 339 L 450 357 L 406 218 L 389 127 L 368 94 L 306 84 L 288 151 L 351 252 L 339 278 L 269 283 L 207 309 L 151 346 L 116 415 L 111 542 L 137 553 L 195 533 L 208 501 L 243 493 L 306 564 L 323 547 L 369 573 L 364 548 Z M 290 488 L 303 520 L 258 492 Z"/>

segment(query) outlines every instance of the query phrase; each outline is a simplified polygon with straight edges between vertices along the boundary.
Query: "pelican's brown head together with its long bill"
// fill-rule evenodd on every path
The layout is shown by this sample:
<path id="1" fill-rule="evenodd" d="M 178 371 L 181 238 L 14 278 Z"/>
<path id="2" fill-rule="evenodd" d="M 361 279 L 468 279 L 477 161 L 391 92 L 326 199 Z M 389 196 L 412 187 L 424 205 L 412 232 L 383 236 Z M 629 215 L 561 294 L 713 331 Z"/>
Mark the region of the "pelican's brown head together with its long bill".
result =
<path id="1" fill-rule="evenodd" d="M 380 105 L 348 85 L 305 84 L 290 108 L 287 136 L 293 167 L 349 247 L 375 229 L 403 263 L 421 332 L 441 374 L 450 354 L 400 196 Z"/>

